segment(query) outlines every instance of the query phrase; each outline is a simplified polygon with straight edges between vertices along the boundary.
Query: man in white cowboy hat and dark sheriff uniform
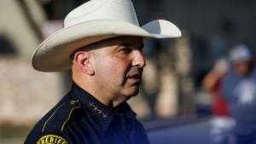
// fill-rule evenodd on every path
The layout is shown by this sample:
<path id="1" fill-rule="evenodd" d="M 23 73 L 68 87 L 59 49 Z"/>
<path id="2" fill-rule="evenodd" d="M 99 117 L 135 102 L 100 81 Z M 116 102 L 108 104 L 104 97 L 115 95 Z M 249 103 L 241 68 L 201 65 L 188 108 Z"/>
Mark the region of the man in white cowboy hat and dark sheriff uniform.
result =
<path id="1" fill-rule="evenodd" d="M 25 144 L 149 143 L 125 101 L 139 91 L 143 39 L 180 37 L 177 26 L 154 20 L 140 27 L 131 0 L 91 0 L 67 14 L 64 26 L 38 46 L 32 66 L 43 72 L 71 69 L 73 88 Z"/>

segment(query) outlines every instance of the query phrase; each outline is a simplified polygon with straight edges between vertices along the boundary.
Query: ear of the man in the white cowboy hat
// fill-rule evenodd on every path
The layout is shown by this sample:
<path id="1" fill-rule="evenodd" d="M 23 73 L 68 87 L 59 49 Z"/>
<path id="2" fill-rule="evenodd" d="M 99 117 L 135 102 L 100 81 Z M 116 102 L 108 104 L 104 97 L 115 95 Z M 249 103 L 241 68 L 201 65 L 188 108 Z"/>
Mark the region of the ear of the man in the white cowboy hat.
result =
<path id="1" fill-rule="evenodd" d="M 90 53 L 85 51 L 78 51 L 73 57 L 73 64 L 78 66 L 81 72 L 84 72 L 90 76 L 94 75 L 94 69 L 90 63 Z"/>

